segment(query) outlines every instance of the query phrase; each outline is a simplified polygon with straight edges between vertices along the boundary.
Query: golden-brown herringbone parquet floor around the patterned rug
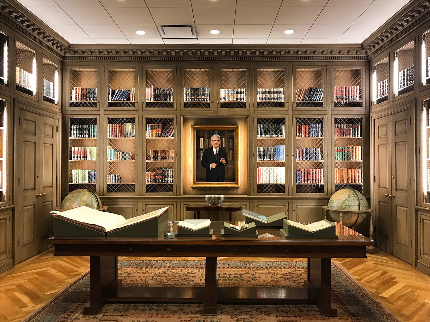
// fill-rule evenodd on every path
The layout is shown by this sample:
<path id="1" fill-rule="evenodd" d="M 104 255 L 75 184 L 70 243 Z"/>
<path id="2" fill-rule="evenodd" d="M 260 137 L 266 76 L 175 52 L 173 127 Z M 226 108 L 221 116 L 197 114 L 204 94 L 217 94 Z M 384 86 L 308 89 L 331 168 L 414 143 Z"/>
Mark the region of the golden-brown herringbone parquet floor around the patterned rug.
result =
<path id="1" fill-rule="evenodd" d="M 333 260 L 400 321 L 430 321 L 429 276 L 379 249 L 367 258 Z M 0 275 L 0 321 L 22 321 L 88 270 L 89 257 L 54 257 L 52 248 L 19 263 Z"/>

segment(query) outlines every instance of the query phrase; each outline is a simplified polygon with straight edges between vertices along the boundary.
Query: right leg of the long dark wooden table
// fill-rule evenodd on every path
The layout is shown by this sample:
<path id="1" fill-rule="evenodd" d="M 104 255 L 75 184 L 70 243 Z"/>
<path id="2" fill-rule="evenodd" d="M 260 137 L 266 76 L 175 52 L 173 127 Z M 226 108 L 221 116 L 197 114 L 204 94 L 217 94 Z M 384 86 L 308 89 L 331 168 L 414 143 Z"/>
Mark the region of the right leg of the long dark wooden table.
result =
<path id="1" fill-rule="evenodd" d="M 307 259 L 307 285 L 315 295 L 319 312 L 323 316 L 337 316 L 332 308 L 332 259 Z"/>

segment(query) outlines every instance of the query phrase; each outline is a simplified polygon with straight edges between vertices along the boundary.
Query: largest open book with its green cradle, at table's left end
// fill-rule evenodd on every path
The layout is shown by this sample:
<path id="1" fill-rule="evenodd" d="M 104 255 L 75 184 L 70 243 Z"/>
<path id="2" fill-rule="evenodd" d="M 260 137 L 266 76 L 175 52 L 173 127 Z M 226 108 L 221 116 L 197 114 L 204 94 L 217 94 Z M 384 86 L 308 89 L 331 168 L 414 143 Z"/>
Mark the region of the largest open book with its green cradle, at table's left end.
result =
<path id="1" fill-rule="evenodd" d="M 55 237 L 157 237 L 169 221 L 170 206 L 125 219 L 86 206 L 52 210 Z"/>

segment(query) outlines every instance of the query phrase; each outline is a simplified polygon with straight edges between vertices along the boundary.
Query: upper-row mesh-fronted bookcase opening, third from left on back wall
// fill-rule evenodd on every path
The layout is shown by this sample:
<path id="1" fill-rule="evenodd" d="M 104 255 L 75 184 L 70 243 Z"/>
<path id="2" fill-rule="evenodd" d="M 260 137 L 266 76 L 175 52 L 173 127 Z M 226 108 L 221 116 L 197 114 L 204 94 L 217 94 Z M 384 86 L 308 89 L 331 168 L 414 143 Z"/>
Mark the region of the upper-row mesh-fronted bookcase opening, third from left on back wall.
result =
<path id="1" fill-rule="evenodd" d="M 145 75 L 145 106 L 147 108 L 174 108 L 173 80 L 175 70 L 172 68 L 147 69 Z"/>

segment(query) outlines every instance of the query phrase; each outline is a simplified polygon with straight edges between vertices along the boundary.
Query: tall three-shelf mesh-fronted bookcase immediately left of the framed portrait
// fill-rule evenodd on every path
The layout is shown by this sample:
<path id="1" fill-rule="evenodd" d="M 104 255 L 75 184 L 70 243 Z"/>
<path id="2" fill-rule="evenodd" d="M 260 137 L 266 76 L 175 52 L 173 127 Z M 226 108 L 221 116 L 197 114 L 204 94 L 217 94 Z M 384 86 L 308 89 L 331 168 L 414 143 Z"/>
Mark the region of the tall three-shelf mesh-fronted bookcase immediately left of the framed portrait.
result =
<path id="1" fill-rule="evenodd" d="M 175 173 L 173 118 L 146 119 L 145 191 L 173 193 Z"/>

